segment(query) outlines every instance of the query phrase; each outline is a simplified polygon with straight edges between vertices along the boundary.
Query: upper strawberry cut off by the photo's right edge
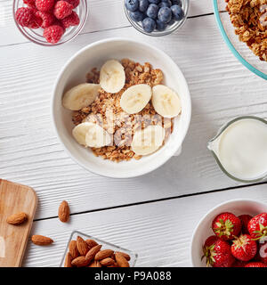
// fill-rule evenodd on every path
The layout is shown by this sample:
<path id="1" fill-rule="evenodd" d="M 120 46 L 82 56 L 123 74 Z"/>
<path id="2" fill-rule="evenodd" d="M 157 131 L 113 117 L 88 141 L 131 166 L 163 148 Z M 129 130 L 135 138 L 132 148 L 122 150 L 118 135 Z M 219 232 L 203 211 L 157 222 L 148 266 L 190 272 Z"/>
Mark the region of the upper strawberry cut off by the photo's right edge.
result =
<path id="1" fill-rule="evenodd" d="M 251 237 L 260 240 L 267 236 L 267 213 L 262 213 L 253 217 L 247 224 L 247 229 Z"/>

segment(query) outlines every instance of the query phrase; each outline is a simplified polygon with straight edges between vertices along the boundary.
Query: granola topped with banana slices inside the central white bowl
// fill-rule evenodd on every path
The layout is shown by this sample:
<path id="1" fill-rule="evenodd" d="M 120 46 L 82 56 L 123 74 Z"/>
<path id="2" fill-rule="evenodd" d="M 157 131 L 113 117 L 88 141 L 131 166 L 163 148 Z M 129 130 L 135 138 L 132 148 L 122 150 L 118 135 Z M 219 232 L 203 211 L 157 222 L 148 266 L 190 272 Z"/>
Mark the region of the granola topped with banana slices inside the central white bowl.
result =
<path id="1" fill-rule="evenodd" d="M 63 96 L 63 106 L 73 110 L 77 142 L 90 147 L 95 156 L 116 162 L 158 151 L 181 113 L 178 94 L 162 85 L 163 79 L 162 70 L 153 69 L 149 62 L 112 60 L 101 71 L 93 68 L 86 75 L 86 84 Z M 83 108 L 69 108 L 69 98 L 77 87 L 89 88 L 77 92 L 76 100 Z M 85 98 L 81 100 L 81 96 Z"/>

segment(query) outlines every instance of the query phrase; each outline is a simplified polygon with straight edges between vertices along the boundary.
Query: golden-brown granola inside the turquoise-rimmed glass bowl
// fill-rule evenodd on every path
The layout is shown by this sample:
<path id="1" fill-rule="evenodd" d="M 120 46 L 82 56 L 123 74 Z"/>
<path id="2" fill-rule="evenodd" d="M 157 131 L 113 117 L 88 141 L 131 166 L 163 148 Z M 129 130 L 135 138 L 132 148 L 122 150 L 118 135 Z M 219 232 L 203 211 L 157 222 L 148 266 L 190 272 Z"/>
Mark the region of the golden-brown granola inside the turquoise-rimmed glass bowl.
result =
<path id="1" fill-rule="evenodd" d="M 226 10 L 239 40 L 267 61 L 267 0 L 229 0 Z"/>

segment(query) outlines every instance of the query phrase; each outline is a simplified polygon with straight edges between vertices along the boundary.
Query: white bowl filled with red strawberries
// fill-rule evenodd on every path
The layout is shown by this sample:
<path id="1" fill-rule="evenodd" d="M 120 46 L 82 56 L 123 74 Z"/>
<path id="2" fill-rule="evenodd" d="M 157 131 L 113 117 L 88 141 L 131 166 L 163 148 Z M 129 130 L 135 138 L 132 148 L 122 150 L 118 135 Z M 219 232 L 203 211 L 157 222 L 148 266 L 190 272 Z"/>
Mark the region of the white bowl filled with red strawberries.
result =
<path id="1" fill-rule="evenodd" d="M 191 240 L 194 267 L 267 267 L 267 205 L 237 199 L 210 210 Z"/>

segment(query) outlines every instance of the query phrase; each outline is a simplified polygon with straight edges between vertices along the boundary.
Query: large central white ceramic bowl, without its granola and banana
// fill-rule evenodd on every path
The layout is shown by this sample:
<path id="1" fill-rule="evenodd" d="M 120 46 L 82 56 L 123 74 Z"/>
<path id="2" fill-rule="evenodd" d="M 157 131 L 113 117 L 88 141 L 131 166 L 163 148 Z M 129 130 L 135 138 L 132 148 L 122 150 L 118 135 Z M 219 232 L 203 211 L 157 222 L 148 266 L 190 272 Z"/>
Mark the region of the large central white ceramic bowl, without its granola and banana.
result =
<path id="1" fill-rule="evenodd" d="M 123 58 L 141 63 L 149 61 L 154 68 L 162 69 L 165 75 L 164 84 L 173 88 L 181 97 L 182 115 L 175 118 L 174 132 L 160 150 L 140 160 L 132 159 L 116 163 L 95 157 L 91 150 L 85 149 L 74 140 L 71 134 L 74 127 L 71 112 L 62 107 L 61 97 L 70 87 L 84 83 L 86 73 L 93 67 L 100 69 L 107 60 Z M 129 39 L 109 38 L 83 48 L 63 67 L 53 91 L 53 122 L 65 150 L 85 169 L 108 177 L 126 178 L 144 175 L 163 165 L 181 148 L 190 125 L 190 116 L 190 91 L 182 71 L 158 48 Z"/>

